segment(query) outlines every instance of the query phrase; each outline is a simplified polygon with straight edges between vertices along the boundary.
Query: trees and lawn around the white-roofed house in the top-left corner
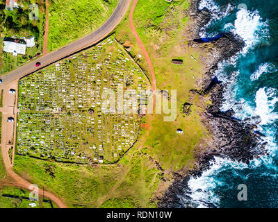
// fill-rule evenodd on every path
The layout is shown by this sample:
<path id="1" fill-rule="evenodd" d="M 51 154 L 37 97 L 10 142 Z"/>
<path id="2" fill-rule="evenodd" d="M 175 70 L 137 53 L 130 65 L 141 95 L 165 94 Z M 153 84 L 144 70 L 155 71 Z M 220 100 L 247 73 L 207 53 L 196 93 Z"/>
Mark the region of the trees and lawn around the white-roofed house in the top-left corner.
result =
<path id="1" fill-rule="evenodd" d="M 0 0 L 0 74 L 5 74 L 15 67 L 22 65 L 31 58 L 34 58 L 42 51 L 42 38 L 44 35 L 44 3 L 42 1 L 17 1 L 19 8 L 6 10 L 6 1 Z M 37 3 L 39 6 L 39 20 L 29 19 L 31 10 L 28 8 L 31 3 Z M 13 53 L 3 52 L 4 37 L 16 36 L 35 37 L 36 45 L 32 48 L 26 48 L 26 55 L 13 56 Z"/>

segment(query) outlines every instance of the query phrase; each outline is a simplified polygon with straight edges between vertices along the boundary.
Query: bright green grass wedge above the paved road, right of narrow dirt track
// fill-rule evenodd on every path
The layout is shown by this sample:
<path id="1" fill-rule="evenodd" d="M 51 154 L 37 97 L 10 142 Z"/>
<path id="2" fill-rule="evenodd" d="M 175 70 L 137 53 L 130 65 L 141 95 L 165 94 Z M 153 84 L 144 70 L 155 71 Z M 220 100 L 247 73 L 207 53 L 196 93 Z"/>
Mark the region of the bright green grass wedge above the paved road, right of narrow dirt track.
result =
<path id="1" fill-rule="evenodd" d="M 117 0 L 51 0 L 48 51 L 54 51 L 99 28 Z"/>

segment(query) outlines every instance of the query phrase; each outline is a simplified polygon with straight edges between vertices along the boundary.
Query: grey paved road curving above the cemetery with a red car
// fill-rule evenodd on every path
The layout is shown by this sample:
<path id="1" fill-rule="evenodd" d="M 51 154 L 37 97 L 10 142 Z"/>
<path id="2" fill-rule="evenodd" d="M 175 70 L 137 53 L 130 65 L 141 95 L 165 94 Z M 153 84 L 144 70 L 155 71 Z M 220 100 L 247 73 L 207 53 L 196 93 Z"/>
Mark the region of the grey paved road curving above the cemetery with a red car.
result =
<path id="1" fill-rule="evenodd" d="M 1 77 L 2 79 L 1 84 L 3 85 L 6 83 L 10 83 L 15 79 L 22 78 L 23 76 L 38 71 L 38 69 L 42 69 L 43 67 L 47 67 L 53 62 L 65 58 L 66 56 L 70 56 L 72 53 L 76 51 L 80 51 L 81 49 L 85 49 L 86 47 L 91 46 L 99 42 L 100 40 L 104 39 L 104 37 L 106 37 L 109 33 L 111 33 L 111 31 L 113 31 L 113 29 L 117 26 L 117 24 L 120 23 L 120 21 L 124 17 L 124 14 L 129 8 L 129 3 L 130 0 L 120 0 L 111 17 L 109 17 L 108 20 L 95 32 L 79 40 L 76 40 L 75 42 L 67 44 L 63 48 L 58 49 L 57 51 L 54 51 L 52 53 L 49 53 L 46 56 L 42 56 L 37 60 L 33 60 L 32 62 L 29 62 L 28 64 L 23 65 L 22 67 L 19 67 L 14 71 L 11 71 L 10 73 Z M 40 67 L 35 67 L 36 62 L 41 63 Z"/>

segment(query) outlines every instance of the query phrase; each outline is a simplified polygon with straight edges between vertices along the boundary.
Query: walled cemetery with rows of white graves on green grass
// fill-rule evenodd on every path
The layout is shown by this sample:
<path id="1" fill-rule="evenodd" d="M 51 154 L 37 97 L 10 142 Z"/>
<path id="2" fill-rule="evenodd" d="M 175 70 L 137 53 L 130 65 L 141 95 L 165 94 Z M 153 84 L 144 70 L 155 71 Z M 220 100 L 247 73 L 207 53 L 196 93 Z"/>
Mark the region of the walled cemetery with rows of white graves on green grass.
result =
<path id="1" fill-rule="evenodd" d="M 17 154 L 79 164 L 119 160 L 140 130 L 138 112 L 101 106 L 104 89 L 117 95 L 119 84 L 138 94 L 136 105 L 124 97 L 123 108 L 142 109 L 140 90 L 149 81 L 113 37 L 19 80 Z"/>

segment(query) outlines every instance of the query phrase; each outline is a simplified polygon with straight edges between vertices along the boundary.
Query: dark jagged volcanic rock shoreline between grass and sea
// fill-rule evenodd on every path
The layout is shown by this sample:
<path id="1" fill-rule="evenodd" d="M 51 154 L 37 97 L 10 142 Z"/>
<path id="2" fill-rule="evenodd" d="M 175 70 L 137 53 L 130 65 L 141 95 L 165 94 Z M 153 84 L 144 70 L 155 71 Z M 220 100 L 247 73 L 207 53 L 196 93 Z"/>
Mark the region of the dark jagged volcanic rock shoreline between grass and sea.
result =
<path id="1" fill-rule="evenodd" d="M 190 47 L 202 47 L 198 41 L 199 32 L 211 20 L 211 12 L 206 8 L 199 10 L 200 0 L 191 0 L 191 6 L 188 9 L 189 22 L 189 42 Z M 224 85 L 214 78 L 214 72 L 218 69 L 218 62 L 227 60 L 236 56 L 243 49 L 245 43 L 243 40 L 233 33 L 224 33 L 223 37 L 209 44 L 208 56 L 201 58 L 205 67 L 204 78 L 197 82 L 197 86 L 201 90 L 193 89 L 193 94 L 200 96 L 209 95 L 211 97 L 211 105 L 202 113 L 202 121 L 206 128 L 210 129 L 211 142 L 206 148 L 197 155 L 197 162 L 193 170 L 186 175 L 176 173 L 172 185 L 167 189 L 163 198 L 159 200 L 158 207 L 195 207 L 191 200 L 188 189 L 188 180 L 191 176 L 200 176 L 202 171 L 208 169 L 210 161 L 215 156 L 229 157 L 231 160 L 249 163 L 254 157 L 263 154 L 264 145 L 262 144 L 260 135 L 254 133 L 255 125 L 246 123 L 233 118 L 234 111 L 220 111 L 222 103 L 222 92 Z M 182 197 L 182 199 L 180 198 Z M 216 207 L 208 205 L 208 207 Z"/>

